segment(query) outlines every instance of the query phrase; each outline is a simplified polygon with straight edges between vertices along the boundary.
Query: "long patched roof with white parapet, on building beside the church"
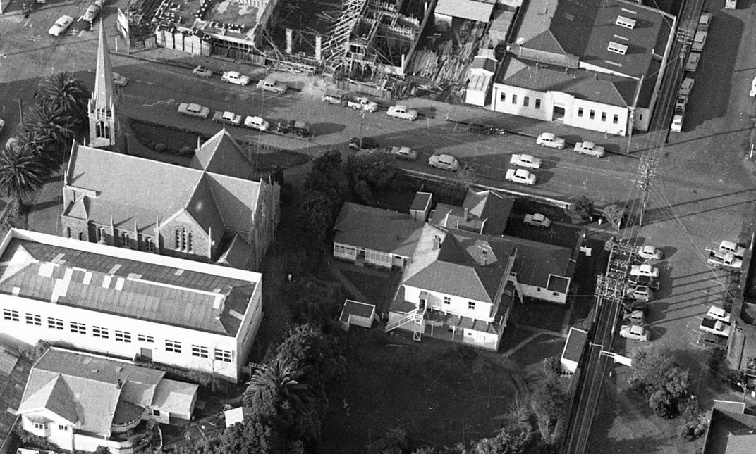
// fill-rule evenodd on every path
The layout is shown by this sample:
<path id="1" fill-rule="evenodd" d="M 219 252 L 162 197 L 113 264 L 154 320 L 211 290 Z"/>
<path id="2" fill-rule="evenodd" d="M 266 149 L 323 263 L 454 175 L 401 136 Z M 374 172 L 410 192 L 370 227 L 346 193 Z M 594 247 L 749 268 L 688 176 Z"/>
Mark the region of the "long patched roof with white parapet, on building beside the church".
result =
<path id="1" fill-rule="evenodd" d="M 235 337 L 259 281 L 251 271 L 18 232 L 8 233 L 0 253 L 0 294 L 29 305 L 54 302 Z"/>

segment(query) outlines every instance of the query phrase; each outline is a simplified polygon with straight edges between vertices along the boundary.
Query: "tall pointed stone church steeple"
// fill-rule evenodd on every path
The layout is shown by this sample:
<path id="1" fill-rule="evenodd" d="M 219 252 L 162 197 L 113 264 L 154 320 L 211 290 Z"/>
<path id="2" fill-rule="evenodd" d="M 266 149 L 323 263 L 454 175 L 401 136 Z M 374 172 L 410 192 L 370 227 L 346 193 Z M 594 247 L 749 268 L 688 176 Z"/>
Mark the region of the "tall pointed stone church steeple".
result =
<path id="1" fill-rule="evenodd" d="M 89 146 L 125 152 L 119 117 L 121 94 L 113 84 L 113 67 L 105 41 L 105 27 L 100 20 L 95 90 L 89 99 Z"/>

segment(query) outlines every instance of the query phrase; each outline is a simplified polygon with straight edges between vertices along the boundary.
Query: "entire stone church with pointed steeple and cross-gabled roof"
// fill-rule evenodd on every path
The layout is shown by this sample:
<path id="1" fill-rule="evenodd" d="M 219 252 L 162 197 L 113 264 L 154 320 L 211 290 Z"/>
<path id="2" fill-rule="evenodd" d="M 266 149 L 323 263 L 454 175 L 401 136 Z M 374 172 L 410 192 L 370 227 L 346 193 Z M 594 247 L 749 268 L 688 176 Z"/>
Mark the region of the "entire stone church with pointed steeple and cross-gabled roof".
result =
<path id="1" fill-rule="evenodd" d="M 186 167 L 126 154 L 116 140 L 120 104 L 102 36 L 97 70 L 91 146 L 73 144 L 58 233 L 257 269 L 278 224 L 280 187 L 255 179 L 253 157 L 225 129 L 198 144 Z"/>

